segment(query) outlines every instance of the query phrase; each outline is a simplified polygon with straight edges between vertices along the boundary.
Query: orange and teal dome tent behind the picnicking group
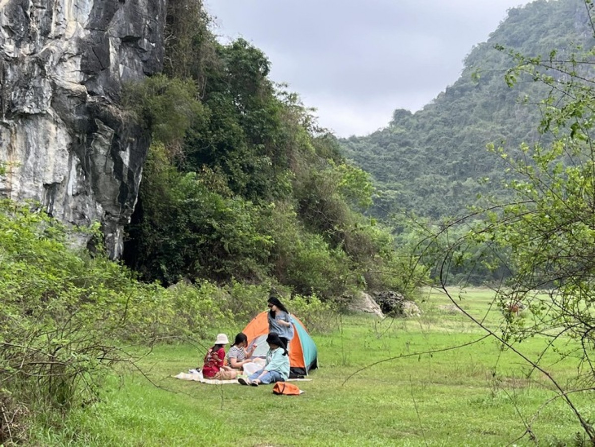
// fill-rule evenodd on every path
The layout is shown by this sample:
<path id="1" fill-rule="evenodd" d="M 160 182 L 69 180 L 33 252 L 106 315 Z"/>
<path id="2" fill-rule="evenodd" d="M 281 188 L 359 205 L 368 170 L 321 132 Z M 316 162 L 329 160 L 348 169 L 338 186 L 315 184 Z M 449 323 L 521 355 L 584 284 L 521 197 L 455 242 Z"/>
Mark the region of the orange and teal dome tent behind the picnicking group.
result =
<path id="1" fill-rule="evenodd" d="M 255 343 L 254 357 L 267 355 L 268 345 L 268 312 L 261 312 L 252 318 L 248 326 L 242 331 L 248 337 L 248 344 Z M 289 342 L 289 368 L 290 377 L 307 376 L 310 370 L 318 367 L 318 352 L 316 344 L 309 335 L 303 323 L 290 315 L 293 324 L 294 336 Z"/>

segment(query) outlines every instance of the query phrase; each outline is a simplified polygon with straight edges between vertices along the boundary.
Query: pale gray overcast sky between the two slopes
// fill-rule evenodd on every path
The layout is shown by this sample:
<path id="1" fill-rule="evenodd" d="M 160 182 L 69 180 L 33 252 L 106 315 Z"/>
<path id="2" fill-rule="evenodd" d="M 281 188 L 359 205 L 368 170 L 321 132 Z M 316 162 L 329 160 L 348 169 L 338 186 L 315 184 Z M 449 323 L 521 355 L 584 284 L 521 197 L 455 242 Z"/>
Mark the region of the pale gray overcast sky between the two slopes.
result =
<path id="1" fill-rule="evenodd" d="M 506 11 L 528 0 L 205 0 L 221 42 L 243 37 L 337 136 L 428 104 Z"/>

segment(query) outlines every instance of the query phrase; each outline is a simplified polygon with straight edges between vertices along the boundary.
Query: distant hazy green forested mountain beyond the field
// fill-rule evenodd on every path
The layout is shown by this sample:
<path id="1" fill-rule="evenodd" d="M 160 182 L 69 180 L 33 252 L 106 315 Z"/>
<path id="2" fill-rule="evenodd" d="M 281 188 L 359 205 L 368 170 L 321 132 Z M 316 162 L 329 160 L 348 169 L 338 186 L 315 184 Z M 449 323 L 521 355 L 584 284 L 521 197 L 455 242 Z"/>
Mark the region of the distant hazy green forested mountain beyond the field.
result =
<path id="1" fill-rule="evenodd" d="M 538 102 L 548 90 L 532 79 L 509 87 L 505 74 L 514 61 L 495 47 L 543 57 L 558 49 L 559 56 L 591 38 L 583 0 L 512 8 L 488 41 L 472 48 L 461 77 L 430 104 L 414 114 L 395 110 L 385 129 L 340 140 L 343 154 L 372 174 L 379 193 L 372 213 L 460 215 L 478 194 L 498 190 L 504 167 L 486 145 L 512 149 L 543 138 Z"/>

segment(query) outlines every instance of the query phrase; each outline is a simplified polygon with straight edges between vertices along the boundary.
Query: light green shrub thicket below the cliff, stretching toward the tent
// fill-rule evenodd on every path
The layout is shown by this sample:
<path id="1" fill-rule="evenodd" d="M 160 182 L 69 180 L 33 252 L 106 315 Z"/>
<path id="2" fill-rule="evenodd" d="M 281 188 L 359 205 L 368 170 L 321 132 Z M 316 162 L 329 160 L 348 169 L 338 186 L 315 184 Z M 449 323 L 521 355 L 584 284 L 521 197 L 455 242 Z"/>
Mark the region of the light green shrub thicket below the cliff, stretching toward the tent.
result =
<path id="1" fill-rule="evenodd" d="M 18 442 L 32 415 L 51 421 L 96 399 L 118 364 L 134 362 L 118 340 L 150 345 L 228 321 L 214 285 L 142 284 L 67 241 L 46 215 L 0 202 L 0 443 Z"/>

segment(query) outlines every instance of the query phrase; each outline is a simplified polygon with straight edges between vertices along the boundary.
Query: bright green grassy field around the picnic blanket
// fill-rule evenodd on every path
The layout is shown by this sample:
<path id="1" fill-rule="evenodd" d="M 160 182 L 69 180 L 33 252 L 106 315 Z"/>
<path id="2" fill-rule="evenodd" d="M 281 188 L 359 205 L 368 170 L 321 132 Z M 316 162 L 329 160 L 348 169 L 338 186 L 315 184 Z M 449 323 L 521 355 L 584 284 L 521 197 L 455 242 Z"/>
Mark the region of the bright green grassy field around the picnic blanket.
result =
<path id="1" fill-rule="evenodd" d="M 501 315 L 488 290 L 469 290 L 461 305 L 488 326 Z M 156 349 L 146 377 L 126 376 L 100 404 L 75 412 L 66 432 L 36 433 L 42 445 L 84 446 L 505 446 L 572 445 L 581 428 L 545 377 L 458 312 L 438 292 L 408 320 L 343 316 L 335 332 L 314 334 L 321 367 L 301 396 L 270 386 L 204 385 L 171 376 L 195 367 L 203 352 Z M 231 332 L 231 331 L 230 331 Z M 456 348 L 456 346 L 461 346 Z M 544 341 L 518 346 L 537 358 Z M 543 360 L 563 385 L 576 361 Z M 574 395 L 587 418 L 588 394 Z M 548 403 L 549 402 L 549 403 Z M 547 403 L 547 405 L 546 405 Z M 529 426 L 534 440 L 525 434 Z"/>

